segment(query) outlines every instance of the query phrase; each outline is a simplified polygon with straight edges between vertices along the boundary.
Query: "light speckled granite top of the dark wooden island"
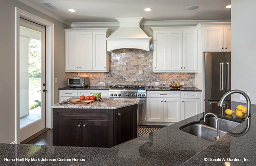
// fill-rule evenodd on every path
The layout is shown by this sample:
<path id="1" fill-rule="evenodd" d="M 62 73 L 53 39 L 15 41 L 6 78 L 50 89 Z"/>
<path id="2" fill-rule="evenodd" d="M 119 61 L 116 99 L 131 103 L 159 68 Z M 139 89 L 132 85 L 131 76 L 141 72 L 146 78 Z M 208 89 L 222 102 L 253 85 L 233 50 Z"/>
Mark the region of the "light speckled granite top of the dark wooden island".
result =
<path id="1" fill-rule="evenodd" d="M 68 102 L 77 97 L 72 97 L 70 99 L 64 100 L 63 102 Z M 102 100 L 92 102 L 90 104 L 54 104 L 51 108 L 81 108 L 81 109 L 118 109 L 122 107 L 132 106 L 139 103 L 139 98 L 102 98 Z"/>

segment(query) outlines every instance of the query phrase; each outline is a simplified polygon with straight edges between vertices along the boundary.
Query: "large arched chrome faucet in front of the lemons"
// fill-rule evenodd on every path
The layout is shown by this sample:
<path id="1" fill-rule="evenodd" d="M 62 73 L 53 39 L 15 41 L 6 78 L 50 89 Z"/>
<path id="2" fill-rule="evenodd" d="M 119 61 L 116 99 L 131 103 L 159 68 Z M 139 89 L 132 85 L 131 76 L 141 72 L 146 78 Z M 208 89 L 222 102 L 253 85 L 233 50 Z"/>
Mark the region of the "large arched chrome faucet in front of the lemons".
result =
<path id="1" fill-rule="evenodd" d="M 231 90 L 231 91 L 225 93 L 221 97 L 221 99 L 220 99 L 220 101 L 218 103 L 218 106 L 219 107 L 225 107 L 226 98 L 229 95 L 233 94 L 233 93 L 239 93 L 239 94 L 241 94 L 241 95 L 243 95 L 245 97 L 245 99 L 246 99 L 246 107 L 247 107 L 247 119 L 250 118 L 251 117 L 251 100 L 250 100 L 249 96 L 247 95 L 247 93 L 245 93 L 244 91 L 241 91 L 241 90 Z"/>

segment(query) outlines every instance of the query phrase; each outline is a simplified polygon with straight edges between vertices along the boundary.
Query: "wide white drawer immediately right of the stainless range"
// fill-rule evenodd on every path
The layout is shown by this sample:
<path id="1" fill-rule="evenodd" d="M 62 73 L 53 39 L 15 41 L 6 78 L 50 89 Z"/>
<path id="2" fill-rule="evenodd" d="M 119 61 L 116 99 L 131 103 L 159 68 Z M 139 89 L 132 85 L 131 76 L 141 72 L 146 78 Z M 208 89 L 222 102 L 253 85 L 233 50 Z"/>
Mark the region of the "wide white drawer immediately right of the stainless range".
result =
<path id="1" fill-rule="evenodd" d="M 173 91 L 147 91 L 147 97 L 180 98 L 180 92 L 173 92 Z"/>

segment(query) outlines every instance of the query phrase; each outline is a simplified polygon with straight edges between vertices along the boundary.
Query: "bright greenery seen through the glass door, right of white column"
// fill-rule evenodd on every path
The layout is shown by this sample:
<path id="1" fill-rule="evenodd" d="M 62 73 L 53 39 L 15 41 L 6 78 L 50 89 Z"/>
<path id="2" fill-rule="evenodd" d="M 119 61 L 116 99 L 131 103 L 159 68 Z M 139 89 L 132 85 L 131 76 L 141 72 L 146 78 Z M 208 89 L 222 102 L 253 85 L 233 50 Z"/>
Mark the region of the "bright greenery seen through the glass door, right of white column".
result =
<path id="1" fill-rule="evenodd" d="M 29 110 L 39 107 L 41 102 L 41 41 L 31 39 L 29 43 Z"/>

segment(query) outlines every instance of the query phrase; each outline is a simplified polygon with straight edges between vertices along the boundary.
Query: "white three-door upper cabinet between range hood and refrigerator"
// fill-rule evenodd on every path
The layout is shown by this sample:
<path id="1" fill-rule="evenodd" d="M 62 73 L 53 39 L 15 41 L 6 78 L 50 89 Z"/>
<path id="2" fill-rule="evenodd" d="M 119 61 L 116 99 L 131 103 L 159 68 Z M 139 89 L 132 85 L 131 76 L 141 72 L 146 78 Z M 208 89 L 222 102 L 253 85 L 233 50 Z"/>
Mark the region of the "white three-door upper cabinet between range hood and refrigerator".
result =
<path id="1" fill-rule="evenodd" d="M 197 30 L 153 27 L 154 72 L 198 72 Z"/>

